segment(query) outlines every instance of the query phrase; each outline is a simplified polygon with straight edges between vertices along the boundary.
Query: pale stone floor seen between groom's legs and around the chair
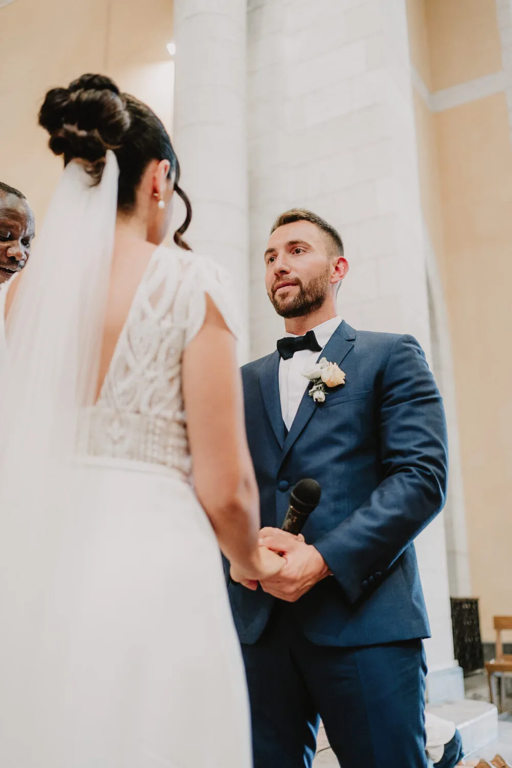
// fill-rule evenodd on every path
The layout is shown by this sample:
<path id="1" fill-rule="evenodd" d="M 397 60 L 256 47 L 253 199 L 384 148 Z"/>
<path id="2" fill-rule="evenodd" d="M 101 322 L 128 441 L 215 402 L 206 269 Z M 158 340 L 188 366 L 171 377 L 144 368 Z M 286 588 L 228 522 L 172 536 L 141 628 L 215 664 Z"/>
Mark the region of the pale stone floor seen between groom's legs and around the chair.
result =
<path id="1" fill-rule="evenodd" d="M 466 677 L 464 687 L 466 689 L 466 698 L 479 701 L 489 700 L 487 677 L 484 672 L 477 672 Z M 497 741 L 487 744 L 487 746 L 477 750 L 477 753 L 471 756 L 467 755 L 468 758 L 484 757 L 490 760 L 498 753 L 512 764 L 512 686 L 507 690 L 507 710 L 507 712 L 500 715 Z M 319 731 L 318 751 L 313 764 L 315 768 L 339 768 L 338 760 L 336 760 L 334 753 L 329 748 L 329 742 L 322 728 Z"/>

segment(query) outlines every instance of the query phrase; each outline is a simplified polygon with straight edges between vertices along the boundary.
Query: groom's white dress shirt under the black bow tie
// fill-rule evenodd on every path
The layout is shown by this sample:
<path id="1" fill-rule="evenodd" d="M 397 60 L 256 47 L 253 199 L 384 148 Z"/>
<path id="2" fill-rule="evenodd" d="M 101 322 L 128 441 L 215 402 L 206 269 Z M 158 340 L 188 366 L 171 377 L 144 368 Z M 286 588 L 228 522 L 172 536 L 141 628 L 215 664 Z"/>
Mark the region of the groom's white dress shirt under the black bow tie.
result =
<path id="1" fill-rule="evenodd" d="M 322 323 L 321 326 L 312 329 L 322 351 L 341 322 L 341 317 L 333 317 L 326 323 Z M 294 333 L 286 333 L 285 336 L 296 337 Z M 288 430 L 292 426 L 302 396 L 309 385 L 308 379 L 306 376 L 302 376 L 302 372 L 306 367 L 316 362 L 321 354 L 320 352 L 312 352 L 310 349 L 301 349 L 288 360 L 281 359 L 279 362 L 279 395 L 281 396 L 282 420 Z"/>

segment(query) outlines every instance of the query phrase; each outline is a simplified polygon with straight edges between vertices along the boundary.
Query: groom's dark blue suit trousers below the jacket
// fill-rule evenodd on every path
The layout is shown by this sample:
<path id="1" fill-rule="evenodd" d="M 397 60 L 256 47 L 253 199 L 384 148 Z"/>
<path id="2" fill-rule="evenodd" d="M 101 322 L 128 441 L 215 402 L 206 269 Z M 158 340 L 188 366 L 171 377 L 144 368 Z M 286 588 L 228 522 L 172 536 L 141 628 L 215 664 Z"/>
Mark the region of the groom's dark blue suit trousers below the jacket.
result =
<path id="1" fill-rule="evenodd" d="M 254 768 L 310 768 L 320 718 L 342 768 L 427 768 L 421 640 L 315 645 L 278 601 L 242 650 Z"/>

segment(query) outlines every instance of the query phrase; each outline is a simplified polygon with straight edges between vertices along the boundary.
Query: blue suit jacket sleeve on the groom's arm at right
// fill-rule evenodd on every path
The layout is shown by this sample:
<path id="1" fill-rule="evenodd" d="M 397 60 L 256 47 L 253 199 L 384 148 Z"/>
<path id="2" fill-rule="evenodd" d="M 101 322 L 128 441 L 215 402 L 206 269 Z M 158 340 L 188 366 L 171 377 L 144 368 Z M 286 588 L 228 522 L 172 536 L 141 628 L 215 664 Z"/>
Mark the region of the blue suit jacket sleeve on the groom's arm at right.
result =
<path id="1" fill-rule="evenodd" d="M 315 548 L 352 603 L 386 571 L 444 506 L 448 440 L 441 395 L 423 350 L 401 336 L 379 394 L 382 482 Z"/>

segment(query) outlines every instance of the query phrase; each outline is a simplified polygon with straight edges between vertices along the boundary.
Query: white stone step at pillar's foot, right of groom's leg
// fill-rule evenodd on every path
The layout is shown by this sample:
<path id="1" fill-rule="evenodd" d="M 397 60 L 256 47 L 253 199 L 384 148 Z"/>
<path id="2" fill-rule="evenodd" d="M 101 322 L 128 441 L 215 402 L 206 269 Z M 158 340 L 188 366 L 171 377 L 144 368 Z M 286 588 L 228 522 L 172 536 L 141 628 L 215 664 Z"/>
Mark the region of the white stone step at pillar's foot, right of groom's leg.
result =
<path id="1" fill-rule="evenodd" d="M 487 701 L 464 700 L 427 704 L 427 710 L 455 723 L 461 733 L 464 754 L 479 750 L 497 739 L 497 709 Z"/>

